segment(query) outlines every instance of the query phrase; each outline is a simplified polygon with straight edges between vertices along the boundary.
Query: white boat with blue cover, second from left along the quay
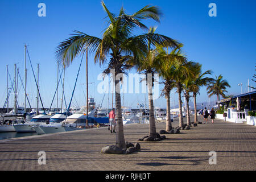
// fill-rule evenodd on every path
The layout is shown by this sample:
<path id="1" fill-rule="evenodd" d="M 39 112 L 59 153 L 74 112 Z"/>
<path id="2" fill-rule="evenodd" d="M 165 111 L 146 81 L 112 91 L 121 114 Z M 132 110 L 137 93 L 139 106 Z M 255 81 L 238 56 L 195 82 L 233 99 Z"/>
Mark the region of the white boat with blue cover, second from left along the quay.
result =
<path id="1" fill-rule="evenodd" d="M 14 124 L 14 128 L 16 132 L 35 132 L 35 130 L 32 129 L 32 126 L 46 125 L 47 123 L 49 123 L 49 119 L 51 117 L 52 115 L 39 114 L 33 117 L 31 121 L 16 125 Z"/>

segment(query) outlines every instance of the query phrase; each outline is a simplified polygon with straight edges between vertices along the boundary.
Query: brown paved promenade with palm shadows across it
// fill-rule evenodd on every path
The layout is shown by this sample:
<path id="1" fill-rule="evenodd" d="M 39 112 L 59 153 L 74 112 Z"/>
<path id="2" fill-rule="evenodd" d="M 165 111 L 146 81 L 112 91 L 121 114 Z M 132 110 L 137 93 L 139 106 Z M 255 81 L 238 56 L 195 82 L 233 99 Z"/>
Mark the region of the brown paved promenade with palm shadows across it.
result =
<path id="1" fill-rule="evenodd" d="M 156 130 L 165 125 L 156 123 Z M 149 127 L 130 124 L 124 131 L 135 143 Z M 139 142 L 141 151 L 130 155 L 101 154 L 102 147 L 115 143 L 107 127 L 0 140 L 0 170 L 256 170 L 255 126 L 216 119 L 180 131 L 160 142 Z M 38 164 L 39 151 L 46 152 L 46 165 Z M 217 164 L 209 164 L 210 151 L 216 151 Z"/>

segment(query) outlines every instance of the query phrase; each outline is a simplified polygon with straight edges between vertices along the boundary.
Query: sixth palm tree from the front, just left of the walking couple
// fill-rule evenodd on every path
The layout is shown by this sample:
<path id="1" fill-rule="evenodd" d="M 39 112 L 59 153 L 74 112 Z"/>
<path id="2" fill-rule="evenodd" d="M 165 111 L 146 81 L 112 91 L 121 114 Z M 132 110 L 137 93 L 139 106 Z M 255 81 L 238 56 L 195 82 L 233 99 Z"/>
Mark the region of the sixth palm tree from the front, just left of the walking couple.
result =
<path id="1" fill-rule="evenodd" d="M 197 74 L 195 76 L 195 79 L 192 80 L 192 84 L 190 86 L 190 90 L 193 93 L 193 98 L 194 98 L 194 111 L 195 111 L 195 118 L 194 118 L 194 123 L 196 123 L 197 120 L 197 108 L 196 108 L 196 96 L 199 93 L 200 87 L 201 86 L 206 86 L 209 84 L 210 81 L 213 81 L 212 78 L 205 77 L 205 75 L 212 75 L 212 71 L 207 70 L 204 73 L 201 71 L 202 65 L 199 64 L 199 69 L 197 69 Z"/>

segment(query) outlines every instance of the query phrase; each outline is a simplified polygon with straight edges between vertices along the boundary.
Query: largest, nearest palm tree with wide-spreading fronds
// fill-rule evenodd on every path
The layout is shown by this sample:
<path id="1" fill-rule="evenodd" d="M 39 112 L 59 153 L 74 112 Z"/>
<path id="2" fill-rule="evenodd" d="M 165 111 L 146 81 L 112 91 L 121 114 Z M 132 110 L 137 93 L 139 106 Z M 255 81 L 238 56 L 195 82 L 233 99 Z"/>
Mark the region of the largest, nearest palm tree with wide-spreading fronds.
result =
<path id="1" fill-rule="evenodd" d="M 123 122 L 121 111 L 121 97 L 119 82 L 121 78 L 115 79 L 119 73 L 125 73 L 127 69 L 131 68 L 128 61 L 138 57 L 145 48 L 145 40 L 148 35 L 133 36 L 133 30 L 136 27 L 148 30 L 141 20 L 153 19 L 159 22 L 160 10 L 156 6 L 145 6 L 136 13 L 129 15 L 125 13 L 123 7 L 119 10 L 119 14 L 110 13 L 105 3 L 101 2 L 107 17 L 109 18 L 108 27 L 105 29 L 102 38 L 87 35 L 80 31 L 75 31 L 76 34 L 61 42 L 57 47 L 57 60 L 63 65 L 68 66 L 72 63 L 76 56 L 88 47 L 90 52 L 94 52 L 94 62 L 100 65 L 107 62 L 106 57 L 110 56 L 108 68 L 104 73 L 110 73 L 110 69 L 114 69 L 114 83 L 115 83 L 115 109 L 117 111 L 117 139 L 118 147 L 125 148 L 125 137 L 123 134 Z M 160 42 L 162 39 L 168 38 L 155 35 L 152 42 Z"/>

